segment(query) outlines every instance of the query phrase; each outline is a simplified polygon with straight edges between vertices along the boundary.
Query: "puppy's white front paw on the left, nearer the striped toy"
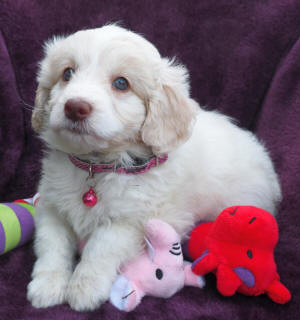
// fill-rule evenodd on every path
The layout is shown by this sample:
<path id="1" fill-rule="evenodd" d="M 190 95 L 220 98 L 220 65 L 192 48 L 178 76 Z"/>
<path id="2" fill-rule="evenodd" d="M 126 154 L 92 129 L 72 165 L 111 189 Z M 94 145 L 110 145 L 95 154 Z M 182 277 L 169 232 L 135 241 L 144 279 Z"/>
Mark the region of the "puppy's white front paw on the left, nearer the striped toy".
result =
<path id="1" fill-rule="evenodd" d="M 71 274 L 43 271 L 34 275 L 27 287 L 27 299 L 35 308 L 47 308 L 66 301 Z"/>

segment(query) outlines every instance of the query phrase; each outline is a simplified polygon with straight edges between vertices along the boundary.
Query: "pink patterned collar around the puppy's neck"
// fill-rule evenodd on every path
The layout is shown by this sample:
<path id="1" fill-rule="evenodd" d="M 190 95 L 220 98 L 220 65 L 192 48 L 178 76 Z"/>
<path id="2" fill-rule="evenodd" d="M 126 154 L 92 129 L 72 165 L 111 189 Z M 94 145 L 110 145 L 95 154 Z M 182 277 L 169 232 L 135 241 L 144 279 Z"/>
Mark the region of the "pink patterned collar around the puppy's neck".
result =
<path id="1" fill-rule="evenodd" d="M 149 160 L 146 160 L 142 164 L 133 165 L 131 167 L 122 167 L 116 165 L 116 163 L 104 163 L 104 164 L 94 164 L 82 161 L 75 156 L 69 154 L 70 161 L 77 167 L 82 170 L 89 172 L 89 176 L 92 176 L 93 173 L 101 172 L 116 172 L 123 174 L 141 174 L 149 171 L 151 168 L 158 166 L 167 161 L 168 155 L 165 154 L 162 157 L 153 156 Z"/>

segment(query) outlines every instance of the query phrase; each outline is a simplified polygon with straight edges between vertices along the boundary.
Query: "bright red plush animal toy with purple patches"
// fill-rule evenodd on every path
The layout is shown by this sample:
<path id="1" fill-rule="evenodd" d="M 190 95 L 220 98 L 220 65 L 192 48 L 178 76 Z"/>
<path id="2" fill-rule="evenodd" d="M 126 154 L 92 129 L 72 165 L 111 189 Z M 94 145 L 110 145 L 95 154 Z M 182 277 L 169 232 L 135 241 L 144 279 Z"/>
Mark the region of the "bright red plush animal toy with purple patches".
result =
<path id="1" fill-rule="evenodd" d="M 195 260 L 192 270 L 215 272 L 218 291 L 231 296 L 236 291 L 249 296 L 266 293 L 274 302 L 291 299 L 280 282 L 274 261 L 278 226 L 265 210 L 251 206 L 225 209 L 215 222 L 196 227 L 188 244 Z"/>

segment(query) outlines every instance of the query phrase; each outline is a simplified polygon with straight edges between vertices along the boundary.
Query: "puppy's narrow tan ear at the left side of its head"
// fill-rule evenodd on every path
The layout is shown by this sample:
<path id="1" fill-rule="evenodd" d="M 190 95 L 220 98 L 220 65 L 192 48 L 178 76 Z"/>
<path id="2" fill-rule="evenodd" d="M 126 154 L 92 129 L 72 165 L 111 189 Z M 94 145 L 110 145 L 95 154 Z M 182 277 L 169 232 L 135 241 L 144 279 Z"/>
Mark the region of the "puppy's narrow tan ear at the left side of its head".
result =
<path id="1" fill-rule="evenodd" d="M 43 127 L 44 106 L 47 103 L 50 90 L 42 87 L 40 84 L 36 90 L 34 109 L 31 118 L 31 125 L 34 131 L 40 132 Z"/>

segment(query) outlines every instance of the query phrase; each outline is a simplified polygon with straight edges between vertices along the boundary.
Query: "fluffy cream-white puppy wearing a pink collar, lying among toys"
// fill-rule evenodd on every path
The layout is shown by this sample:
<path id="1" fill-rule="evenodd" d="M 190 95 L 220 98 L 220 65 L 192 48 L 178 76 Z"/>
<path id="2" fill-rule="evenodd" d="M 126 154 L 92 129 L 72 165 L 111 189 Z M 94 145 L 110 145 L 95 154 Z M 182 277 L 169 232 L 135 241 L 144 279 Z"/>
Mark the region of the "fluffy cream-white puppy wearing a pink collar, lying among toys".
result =
<path id="1" fill-rule="evenodd" d="M 32 124 L 48 145 L 28 286 L 35 307 L 99 307 L 141 251 L 150 218 L 184 236 L 225 207 L 274 213 L 281 198 L 258 140 L 201 109 L 184 66 L 116 25 L 46 43 Z"/>

